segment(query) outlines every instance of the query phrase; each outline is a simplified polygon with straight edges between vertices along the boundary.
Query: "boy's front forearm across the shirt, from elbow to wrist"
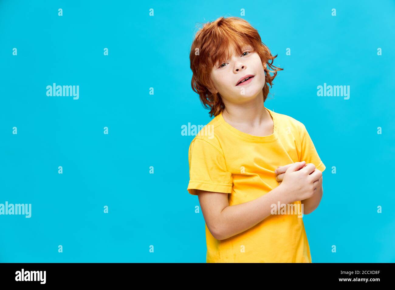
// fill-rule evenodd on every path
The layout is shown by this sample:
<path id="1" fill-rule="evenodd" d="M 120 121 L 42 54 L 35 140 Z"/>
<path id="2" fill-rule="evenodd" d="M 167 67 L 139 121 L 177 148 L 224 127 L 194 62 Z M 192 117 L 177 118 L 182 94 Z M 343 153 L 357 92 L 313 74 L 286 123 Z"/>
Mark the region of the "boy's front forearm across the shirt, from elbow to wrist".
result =
<path id="1" fill-rule="evenodd" d="M 277 205 L 278 201 L 280 201 L 280 204 L 289 203 L 285 196 L 282 187 L 279 185 L 254 200 L 227 206 L 221 211 L 220 233 L 216 238 L 227 239 L 252 228 L 252 226 L 271 215 L 272 204 Z"/>

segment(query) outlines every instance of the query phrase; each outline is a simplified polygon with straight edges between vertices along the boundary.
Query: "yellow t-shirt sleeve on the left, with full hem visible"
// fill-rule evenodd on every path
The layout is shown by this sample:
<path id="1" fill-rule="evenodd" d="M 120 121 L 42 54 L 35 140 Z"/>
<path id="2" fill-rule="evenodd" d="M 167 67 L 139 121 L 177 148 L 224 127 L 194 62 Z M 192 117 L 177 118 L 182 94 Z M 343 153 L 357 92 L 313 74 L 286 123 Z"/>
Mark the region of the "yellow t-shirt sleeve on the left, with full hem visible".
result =
<path id="1" fill-rule="evenodd" d="M 203 139 L 195 139 L 189 146 L 188 192 L 198 195 L 196 189 L 231 193 L 232 174 L 227 171 L 224 155 Z"/>

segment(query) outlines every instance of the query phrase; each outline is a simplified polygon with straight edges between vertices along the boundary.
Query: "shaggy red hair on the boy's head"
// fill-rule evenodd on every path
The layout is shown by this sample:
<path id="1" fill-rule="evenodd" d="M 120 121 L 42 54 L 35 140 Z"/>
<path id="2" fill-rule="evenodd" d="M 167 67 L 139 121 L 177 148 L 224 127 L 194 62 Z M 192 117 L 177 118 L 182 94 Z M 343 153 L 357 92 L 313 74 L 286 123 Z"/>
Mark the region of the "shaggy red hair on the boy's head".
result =
<path id="1" fill-rule="evenodd" d="M 212 94 L 208 88 L 214 88 L 210 78 L 211 70 L 217 62 L 224 62 L 229 59 L 229 45 L 235 52 L 243 53 L 243 45 L 248 44 L 254 48 L 261 58 L 262 66 L 267 63 L 265 69 L 265 85 L 263 86 L 263 102 L 269 94 L 269 85 L 277 75 L 277 71 L 282 68 L 275 67 L 269 48 L 261 41 L 258 31 L 250 23 L 240 17 L 220 17 L 213 22 L 207 22 L 196 33 L 189 55 L 191 62 L 192 90 L 199 94 L 200 101 L 206 109 L 210 109 L 210 117 L 217 116 L 225 105 L 220 94 Z M 269 63 L 271 60 L 271 63 Z M 269 70 L 274 68 L 273 71 Z M 273 76 L 269 72 L 274 73 Z"/>

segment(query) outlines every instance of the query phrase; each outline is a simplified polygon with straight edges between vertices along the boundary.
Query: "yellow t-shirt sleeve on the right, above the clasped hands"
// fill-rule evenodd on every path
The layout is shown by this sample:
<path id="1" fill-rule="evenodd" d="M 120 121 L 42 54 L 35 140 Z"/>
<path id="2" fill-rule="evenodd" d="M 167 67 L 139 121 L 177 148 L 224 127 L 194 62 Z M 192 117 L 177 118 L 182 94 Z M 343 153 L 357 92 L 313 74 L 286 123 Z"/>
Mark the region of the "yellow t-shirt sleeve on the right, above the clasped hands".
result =
<path id="1" fill-rule="evenodd" d="M 324 172 L 326 167 L 322 162 L 320 156 L 318 156 L 317 150 L 313 144 L 313 141 L 310 138 L 310 135 L 307 132 L 305 125 L 303 123 L 300 124 L 301 125 L 299 126 L 299 134 L 301 137 L 301 148 L 299 150 L 299 162 L 306 161 L 306 164 L 313 163 L 318 170 Z"/>

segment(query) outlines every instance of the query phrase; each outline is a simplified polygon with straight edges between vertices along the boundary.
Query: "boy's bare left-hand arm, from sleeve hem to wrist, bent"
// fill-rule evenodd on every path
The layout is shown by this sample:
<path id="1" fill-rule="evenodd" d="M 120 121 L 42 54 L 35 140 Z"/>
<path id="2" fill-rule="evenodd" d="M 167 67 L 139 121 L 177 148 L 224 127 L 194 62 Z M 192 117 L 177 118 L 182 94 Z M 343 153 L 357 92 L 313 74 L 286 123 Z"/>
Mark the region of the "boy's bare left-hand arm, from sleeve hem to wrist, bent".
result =
<path id="1" fill-rule="evenodd" d="M 216 239 L 235 236 L 271 215 L 272 204 L 291 203 L 283 187 L 275 187 L 254 200 L 229 206 L 228 193 L 198 190 L 199 202 L 207 228 Z"/>

